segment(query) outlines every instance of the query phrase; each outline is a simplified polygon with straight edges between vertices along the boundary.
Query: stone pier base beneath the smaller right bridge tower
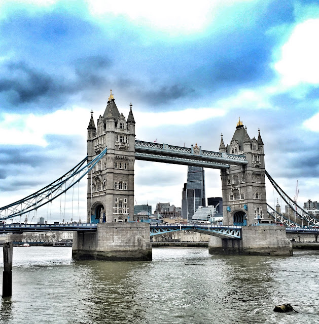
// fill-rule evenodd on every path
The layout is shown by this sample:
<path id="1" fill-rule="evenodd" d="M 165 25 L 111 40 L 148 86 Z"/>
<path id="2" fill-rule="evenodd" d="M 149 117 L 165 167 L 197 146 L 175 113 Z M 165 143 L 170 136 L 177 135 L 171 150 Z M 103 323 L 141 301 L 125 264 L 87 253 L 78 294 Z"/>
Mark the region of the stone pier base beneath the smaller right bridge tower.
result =
<path id="1" fill-rule="evenodd" d="M 293 254 L 292 244 L 282 226 L 243 226 L 241 239 L 211 236 L 210 254 L 279 255 Z"/>

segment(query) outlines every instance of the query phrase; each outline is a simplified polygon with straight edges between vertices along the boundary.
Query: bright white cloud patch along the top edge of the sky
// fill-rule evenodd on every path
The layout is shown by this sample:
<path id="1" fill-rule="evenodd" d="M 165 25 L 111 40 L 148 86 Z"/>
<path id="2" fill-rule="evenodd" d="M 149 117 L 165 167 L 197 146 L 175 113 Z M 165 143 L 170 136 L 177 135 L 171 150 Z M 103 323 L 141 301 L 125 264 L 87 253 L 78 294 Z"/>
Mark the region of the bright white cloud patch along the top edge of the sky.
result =
<path id="1" fill-rule="evenodd" d="M 94 16 L 114 14 L 124 16 L 139 25 L 147 25 L 170 34 L 202 31 L 222 6 L 231 6 L 247 0 L 201 0 L 196 3 L 183 0 L 127 1 L 88 0 Z"/>

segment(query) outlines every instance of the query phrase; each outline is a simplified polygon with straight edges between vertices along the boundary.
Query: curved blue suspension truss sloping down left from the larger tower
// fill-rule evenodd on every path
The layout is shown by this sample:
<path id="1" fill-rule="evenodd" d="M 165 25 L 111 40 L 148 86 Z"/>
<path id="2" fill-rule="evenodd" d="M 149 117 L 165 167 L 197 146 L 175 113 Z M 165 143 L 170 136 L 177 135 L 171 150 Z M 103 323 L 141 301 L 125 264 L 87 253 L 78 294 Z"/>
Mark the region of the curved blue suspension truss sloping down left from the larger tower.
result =
<path id="1" fill-rule="evenodd" d="M 85 165 L 88 159 L 88 156 L 86 156 L 77 166 L 46 187 L 24 197 L 23 199 L 15 201 L 15 203 L 1 207 L 0 220 L 21 216 L 50 203 L 50 201 L 59 197 L 61 194 L 77 184 L 88 172 L 93 169 L 93 167 L 105 155 L 105 153 L 107 153 L 107 148 L 105 148 L 92 161 Z"/>

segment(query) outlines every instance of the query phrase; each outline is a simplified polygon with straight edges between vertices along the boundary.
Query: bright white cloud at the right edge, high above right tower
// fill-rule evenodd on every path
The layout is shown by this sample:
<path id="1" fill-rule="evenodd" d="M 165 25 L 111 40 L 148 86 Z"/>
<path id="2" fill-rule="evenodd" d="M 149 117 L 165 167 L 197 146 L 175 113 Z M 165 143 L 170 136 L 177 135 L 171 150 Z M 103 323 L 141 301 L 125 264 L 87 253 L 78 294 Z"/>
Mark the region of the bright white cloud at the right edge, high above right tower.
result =
<path id="1" fill-rule="evenodd" d="M 281 60 L 274 68 L 284 85 L 319 84 L 318 30 L 319 19 L 309 19 L 298 24 L 289 41 L 282 46 Z"/>

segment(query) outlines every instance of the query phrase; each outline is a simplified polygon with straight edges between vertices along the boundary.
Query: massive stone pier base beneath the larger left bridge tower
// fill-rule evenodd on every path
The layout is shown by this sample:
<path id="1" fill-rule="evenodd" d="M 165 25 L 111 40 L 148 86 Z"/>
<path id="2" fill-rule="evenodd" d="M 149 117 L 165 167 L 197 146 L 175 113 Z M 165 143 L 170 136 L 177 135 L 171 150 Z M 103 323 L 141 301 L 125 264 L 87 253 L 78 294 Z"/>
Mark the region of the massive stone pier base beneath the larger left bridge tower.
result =
<path id="1" fill-rule="evenodd" d="M 72 257 L 77 260 L 152 260 L 150 224 L 99 223 L 96 232 L 74 232 Z"/>

